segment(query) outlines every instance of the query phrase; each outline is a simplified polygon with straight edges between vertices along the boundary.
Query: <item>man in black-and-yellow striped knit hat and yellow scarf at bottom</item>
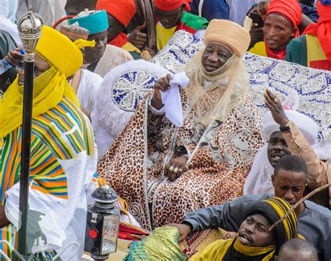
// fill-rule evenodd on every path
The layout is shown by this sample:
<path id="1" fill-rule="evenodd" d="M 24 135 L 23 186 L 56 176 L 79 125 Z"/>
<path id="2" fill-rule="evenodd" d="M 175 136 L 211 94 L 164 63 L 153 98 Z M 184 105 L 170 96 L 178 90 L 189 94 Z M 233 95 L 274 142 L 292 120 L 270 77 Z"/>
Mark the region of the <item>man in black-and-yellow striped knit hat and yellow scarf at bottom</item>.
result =
<path id="1" fill-rule="evenodd" d="M 299 237 L 297 216 L 292 211 L 272 230 L 290 204 L 279 197 L 254 202 L 244 210 L 244 219 L 235 239 L 220 239 L 193 255 L 191 261 L 274 260 L 287 240 Z"/>

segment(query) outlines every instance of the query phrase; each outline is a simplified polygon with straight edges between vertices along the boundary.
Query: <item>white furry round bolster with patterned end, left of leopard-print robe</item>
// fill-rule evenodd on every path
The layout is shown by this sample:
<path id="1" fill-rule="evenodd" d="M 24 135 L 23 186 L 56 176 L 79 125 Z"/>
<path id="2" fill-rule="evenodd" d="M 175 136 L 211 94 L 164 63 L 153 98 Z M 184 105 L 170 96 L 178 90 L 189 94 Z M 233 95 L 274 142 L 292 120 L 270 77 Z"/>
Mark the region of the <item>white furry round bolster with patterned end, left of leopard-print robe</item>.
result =
<path id="1" fill-rule="evenodd" d="M 119 85 L 121 85 L 120 88 L 126 89 L 126 97 L 131 95 L 132 97 L 142 96 L 145 95 L 145 91 L 152 91 L 152 89 L 141 89 L 144 84 L 146 84 L 144 85 L 145 87 L 150 85 L 144 82 L 144 80 L 128 77 L 128 75 L 137 72 L 149 76 L 153 75 L 156 79 L 170 73 L 158 64 L 136 60 L 128 61 L 125 64 L 117 66 L 105 75 L 101 87 L 96 94 L 95 107 L 91 114 L 96 145 L 98 146 L 98 160 L 105 154 L 134 114 L 134 110 L 124 109 L 116 103 L 113 94 L 116 82 L 125 82 L 124 85 Z M 132 104 L 130 103 L 130 105 Z"/>

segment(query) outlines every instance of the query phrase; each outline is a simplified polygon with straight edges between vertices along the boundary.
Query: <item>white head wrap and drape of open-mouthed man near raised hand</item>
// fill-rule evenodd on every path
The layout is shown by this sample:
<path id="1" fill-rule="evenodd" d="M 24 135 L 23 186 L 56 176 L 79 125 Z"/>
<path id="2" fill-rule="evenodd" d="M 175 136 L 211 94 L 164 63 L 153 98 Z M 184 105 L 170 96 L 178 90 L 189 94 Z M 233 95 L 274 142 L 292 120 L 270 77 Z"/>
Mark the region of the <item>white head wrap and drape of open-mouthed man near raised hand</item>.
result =
<path id="1" fill-rule="evenodd" d="M 318 134 L 318 125 L 300 112 L 285 110 L 285 114 L 301 130 L 307 142 L 314 144 Z M 268 140 L 275 131 L 279 131 L 279 124 L 274 122 L 271 112 L 267 112 L 263 117 L 263 134 Z M 271 181 L 273 173 L 274 167 L 267 159 L 267 144 L 265 144 L 258 150 L 254 158 L 251 172 L 249 172 L 244 184 L 244 195 L 273 193 L 274 187 Z"/>

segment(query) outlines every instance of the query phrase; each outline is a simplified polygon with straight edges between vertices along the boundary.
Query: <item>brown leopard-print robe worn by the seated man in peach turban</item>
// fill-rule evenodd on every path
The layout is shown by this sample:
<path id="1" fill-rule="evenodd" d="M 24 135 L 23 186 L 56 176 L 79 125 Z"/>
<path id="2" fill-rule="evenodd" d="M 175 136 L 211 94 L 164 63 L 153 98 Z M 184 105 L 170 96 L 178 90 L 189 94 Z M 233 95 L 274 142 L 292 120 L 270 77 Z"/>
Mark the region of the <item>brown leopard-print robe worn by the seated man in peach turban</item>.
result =
<path id="1" fill-rule="evenodd" d="M 104 177 L 143 228 L 179 223 L 187 211 L 222 204 L 242 195 L 256 151 L 262 144 L 260 115 L 247 96 L 227 119 L 198 124 L 181 91 L 184 125 L 138 105 L 134 116 L 98 163 Z M 197 147 L 198 145 L 198 147 Z M 165 165 L 184 146 L 188 170 L 174 182 L 163 177 Z"/>

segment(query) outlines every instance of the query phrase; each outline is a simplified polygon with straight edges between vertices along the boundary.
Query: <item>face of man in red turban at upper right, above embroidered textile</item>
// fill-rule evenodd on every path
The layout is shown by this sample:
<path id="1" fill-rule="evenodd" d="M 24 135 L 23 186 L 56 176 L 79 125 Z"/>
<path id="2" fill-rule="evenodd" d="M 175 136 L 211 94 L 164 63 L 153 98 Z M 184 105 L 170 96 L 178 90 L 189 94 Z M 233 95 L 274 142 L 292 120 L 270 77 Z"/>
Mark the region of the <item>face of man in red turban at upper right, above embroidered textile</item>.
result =
<path id="1" fill-rule="evenodd" d="M 296 29 L 285 17 L 271 13 L 265 18 L 263 36 L 265 43 L 273 51 L 286 50 L 286 46 L 295 36 Z"/>

